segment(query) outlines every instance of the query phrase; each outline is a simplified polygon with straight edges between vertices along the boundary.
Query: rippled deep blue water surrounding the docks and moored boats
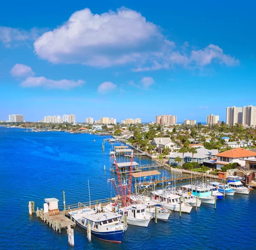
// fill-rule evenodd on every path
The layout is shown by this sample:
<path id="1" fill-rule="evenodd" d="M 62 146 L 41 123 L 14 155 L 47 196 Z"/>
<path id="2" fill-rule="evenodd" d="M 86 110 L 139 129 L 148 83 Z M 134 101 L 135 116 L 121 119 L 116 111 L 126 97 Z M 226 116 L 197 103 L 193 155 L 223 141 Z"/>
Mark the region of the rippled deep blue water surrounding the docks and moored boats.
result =
<path id="1" fill-rule="evenodd" d="M 44 198 L 55 197 L 61 205 L 62 190 L 66 204 L 88 201 L 88 179 L 92 200 L 111 196 L 107 180 L 116 175 L 108 170 L 111 144 L 106 142 L 102 152 L 104 138 L 0 127 L 0 249 L 256 249 L 256 190 L 248 196 L 226 196 L 217 201 L 216 210 L 202 204 L 181 217 L 172 212 L 168 222 L 152 220 L 147 228 L 129 225 L 122 244 L 95 238 L 88 242 L 86 232 L 76 226 L 75 247 L 70 247 L 65 230 L 55 233 L 29 216 L 29 201 L 42 208 Z"/>

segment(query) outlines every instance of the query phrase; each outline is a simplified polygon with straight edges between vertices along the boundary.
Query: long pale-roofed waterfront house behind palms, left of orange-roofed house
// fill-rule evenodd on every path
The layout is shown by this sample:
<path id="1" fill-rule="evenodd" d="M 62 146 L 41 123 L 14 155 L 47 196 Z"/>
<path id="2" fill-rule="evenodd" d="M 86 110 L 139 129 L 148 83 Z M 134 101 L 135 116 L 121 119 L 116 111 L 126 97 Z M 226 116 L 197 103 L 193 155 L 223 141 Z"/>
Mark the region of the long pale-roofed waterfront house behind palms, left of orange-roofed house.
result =
<path id="1" fill-rule="evenodd" d="M 203 161 L 212 159 L 214 155 L 218 153 L 217 149 L 209 150 L 204 147 L 196 148 L 196 151 L 197 153 L 194 153 L 193 162 L 198 162 L 198 164 L 203 163 Z M 169 157 L 169 164 L 174 165 L 175 158 L 178 156 L 182 159 L 183 153 L 172 153 L 168 155 L 167 157 Z M 184 163 L 192 162 L 192 157 L 193 157 L 192 153 L 189 153 L 189 152 L 184 153 Z M 175 163 L 175 165 L 178 165 L 178 163 Z"/>

